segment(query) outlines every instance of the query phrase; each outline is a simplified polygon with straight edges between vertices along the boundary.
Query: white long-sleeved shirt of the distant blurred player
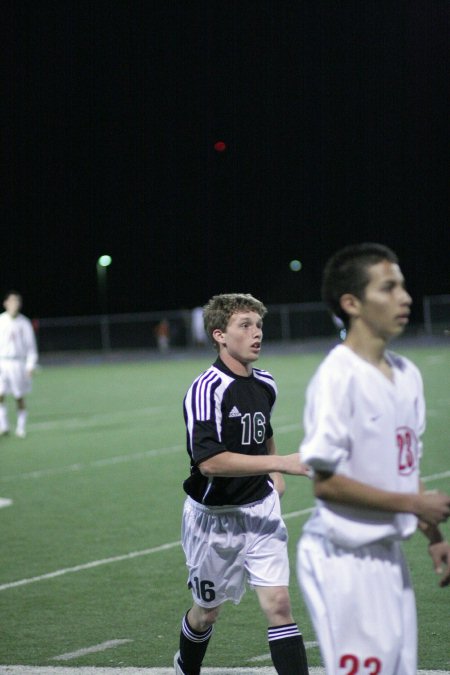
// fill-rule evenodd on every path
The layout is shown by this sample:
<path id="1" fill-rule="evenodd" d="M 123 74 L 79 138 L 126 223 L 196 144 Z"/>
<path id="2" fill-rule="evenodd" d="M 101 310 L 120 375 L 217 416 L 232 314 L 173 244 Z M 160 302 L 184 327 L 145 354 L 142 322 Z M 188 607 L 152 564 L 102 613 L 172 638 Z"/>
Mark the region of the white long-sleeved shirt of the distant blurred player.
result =
<path id="1" fill-rule="evenodd" d="M 31 321 L 23 314 L 12 317 L 0 314 L 0 360 L 16 359 L 33 370 L 38 360 L 36 339 Z"/>

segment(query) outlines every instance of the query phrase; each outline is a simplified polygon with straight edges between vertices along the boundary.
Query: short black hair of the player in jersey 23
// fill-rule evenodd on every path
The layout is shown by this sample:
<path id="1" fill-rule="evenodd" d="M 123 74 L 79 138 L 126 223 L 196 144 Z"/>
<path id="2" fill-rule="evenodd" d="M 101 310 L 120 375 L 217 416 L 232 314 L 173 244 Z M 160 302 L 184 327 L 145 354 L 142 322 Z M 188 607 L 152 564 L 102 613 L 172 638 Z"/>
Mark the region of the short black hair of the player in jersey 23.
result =
<path id="1" fill-rule="evenodd" d="M 369 283 L 368 268 L 383 260 L 398 263 L 394 251 L 383 244 L 354 244 L 340 249 L 325 265 L 322 277 L 322 299 L 332 314 L 349 327 L 350 317 L 341 307 L 341 297 L 351 293 L 360 300 Z"/>

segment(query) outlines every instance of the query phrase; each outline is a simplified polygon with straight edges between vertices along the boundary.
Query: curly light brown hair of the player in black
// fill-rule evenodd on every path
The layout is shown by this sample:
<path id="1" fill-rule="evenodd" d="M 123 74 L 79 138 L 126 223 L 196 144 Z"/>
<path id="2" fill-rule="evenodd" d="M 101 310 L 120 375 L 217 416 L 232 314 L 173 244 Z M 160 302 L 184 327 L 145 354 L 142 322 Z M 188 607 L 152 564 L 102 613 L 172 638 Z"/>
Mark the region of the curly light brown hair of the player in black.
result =
<path id="1" fill-rule="evenodd" d="M 231 316 L 236 312 L 245 311 L 256 312 L 261 318 L 267 314 L 267 308 L 263 303 L 250 293 L 214 295 L 203 307 L 205 331 L 216 349 L 218 349 L 218 344 L 212 336 L 213 331 L 216 328 L 225 331 Z"/>

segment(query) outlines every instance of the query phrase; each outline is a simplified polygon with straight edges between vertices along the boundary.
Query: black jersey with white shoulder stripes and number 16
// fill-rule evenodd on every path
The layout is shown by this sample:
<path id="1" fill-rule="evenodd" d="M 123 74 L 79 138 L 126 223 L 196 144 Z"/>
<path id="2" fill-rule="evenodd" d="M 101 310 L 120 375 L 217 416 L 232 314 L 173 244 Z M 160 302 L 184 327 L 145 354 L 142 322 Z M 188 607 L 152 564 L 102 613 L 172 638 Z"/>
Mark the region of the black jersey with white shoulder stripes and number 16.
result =
<path id="1" fill-rule="evenodd" d="M 276 395 L 275 382 L 267 371 L 254 368 L 252 375 L 242 377 L 220 358 L 194 381 L 184 399 L 191 475 L 183 487 L 188 495 L 208 506 L 224 506 L 249 504 L 272 491 L 268 474 L 206 478 L 198 466 L 226 450 L 267 455 Z"/>

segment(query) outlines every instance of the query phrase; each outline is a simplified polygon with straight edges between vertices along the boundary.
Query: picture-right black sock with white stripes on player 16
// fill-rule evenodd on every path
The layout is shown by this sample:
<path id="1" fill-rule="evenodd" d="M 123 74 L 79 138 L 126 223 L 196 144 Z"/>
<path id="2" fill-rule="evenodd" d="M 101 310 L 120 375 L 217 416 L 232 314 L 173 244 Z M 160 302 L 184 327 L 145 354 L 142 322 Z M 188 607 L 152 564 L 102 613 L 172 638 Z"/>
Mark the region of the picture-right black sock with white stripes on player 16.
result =
<path id="1" fill-rule="evenodd" d="M 278 675 L 308 675 L 305 645 L 297 624 L 272 626 L 267 630 L 267 637 Z"/>

